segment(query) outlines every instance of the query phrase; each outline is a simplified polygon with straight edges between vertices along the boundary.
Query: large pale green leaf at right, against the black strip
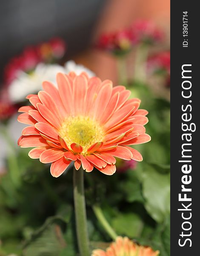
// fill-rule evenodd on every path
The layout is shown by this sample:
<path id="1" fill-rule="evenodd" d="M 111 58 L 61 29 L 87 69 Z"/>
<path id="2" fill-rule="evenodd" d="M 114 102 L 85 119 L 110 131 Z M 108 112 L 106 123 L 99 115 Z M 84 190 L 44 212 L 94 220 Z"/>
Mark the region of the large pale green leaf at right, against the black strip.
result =
<path id="1" fill-rule="evenodd" d="M 143 196 L 151 217 L 162 222 L 170 212 L 170 174 L 161 174 L 146 165 L 143 172 Z"/>

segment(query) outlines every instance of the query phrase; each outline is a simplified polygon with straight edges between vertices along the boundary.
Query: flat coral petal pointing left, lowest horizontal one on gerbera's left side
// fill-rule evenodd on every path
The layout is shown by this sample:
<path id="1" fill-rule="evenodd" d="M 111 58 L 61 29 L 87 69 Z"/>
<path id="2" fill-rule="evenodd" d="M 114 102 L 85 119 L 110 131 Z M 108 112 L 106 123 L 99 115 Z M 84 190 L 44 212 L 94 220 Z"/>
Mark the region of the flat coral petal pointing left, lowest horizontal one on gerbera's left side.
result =
<path id="1" fill-rule="evenodd" d="M 20 140 L 19 144 L 21 148 L 49 146 L 48 143 L 46 143 L 46 140 L 37 135 L 25 136 Z"/>

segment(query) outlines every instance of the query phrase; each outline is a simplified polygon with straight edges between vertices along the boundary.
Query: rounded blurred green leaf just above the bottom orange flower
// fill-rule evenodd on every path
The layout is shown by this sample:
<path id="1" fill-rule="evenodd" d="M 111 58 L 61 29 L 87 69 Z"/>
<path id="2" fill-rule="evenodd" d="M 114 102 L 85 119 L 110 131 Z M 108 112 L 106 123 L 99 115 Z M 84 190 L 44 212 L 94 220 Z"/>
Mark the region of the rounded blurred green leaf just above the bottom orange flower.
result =
<path id="1" fill-rule="evenodd" d="M 134 238 L 140 236 L 143 229 L 143 221 L 139 215 L 133 212 L 124 213 L 113 218 L 111 226 L 117 234 Z"/>

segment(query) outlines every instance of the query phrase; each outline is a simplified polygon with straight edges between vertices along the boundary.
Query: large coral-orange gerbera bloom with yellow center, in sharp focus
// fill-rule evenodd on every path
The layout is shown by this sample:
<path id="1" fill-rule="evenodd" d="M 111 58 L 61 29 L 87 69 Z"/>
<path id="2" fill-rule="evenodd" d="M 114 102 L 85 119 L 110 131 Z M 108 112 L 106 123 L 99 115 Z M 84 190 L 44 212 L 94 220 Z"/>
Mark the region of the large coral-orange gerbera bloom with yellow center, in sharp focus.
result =
<path id="1" fill-rule="evenodd" d="M 97 168 L 112 175 L 116 159 L 142 161 L 141 154 L 128 145 L 148 142 L 146 110 L 139 99 L 128 99 L 124 86 L 112 87 L 109 80 L 57 74 L 56 88 L 43 82 L 43 91 L 28 95 L 18 121 L 31 125 L 22 131 L 18 145 L 31 149 L 29 157 L 51 164 L 51 175 L 60 176 L 71 161 L 78 170 Z"/>

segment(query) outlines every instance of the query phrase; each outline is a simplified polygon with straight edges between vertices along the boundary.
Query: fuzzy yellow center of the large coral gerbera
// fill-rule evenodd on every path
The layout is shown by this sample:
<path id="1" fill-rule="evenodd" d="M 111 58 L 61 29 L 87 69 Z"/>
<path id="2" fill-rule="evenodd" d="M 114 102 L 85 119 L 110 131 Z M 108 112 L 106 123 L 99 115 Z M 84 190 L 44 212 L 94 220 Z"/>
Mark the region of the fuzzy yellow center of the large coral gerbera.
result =
<path id="1" fill-rule="evenodd" d="M 81 145 L 82 154 L 86 154 L 91 145 L 103 141 L 104 138 L 103 128 L 88 116 L 69 116 L 61 125 L 59 134 L 69 148 L 72 143 Z"/>

